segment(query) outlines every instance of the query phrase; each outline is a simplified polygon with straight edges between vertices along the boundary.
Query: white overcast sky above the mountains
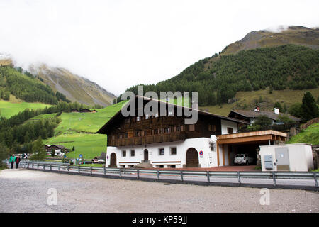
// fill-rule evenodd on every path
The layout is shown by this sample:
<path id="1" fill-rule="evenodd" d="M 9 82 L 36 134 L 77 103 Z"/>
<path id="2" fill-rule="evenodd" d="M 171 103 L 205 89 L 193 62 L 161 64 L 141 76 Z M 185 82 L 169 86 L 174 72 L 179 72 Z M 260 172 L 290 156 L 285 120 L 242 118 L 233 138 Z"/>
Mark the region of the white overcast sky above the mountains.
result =
<path id="1" fill-rule="evenodd" d="M 0 52 L 65 67 L 119 95 L 211 57 L 250 31 L 319 26 L 319 1 L 0 0 Z"/>

